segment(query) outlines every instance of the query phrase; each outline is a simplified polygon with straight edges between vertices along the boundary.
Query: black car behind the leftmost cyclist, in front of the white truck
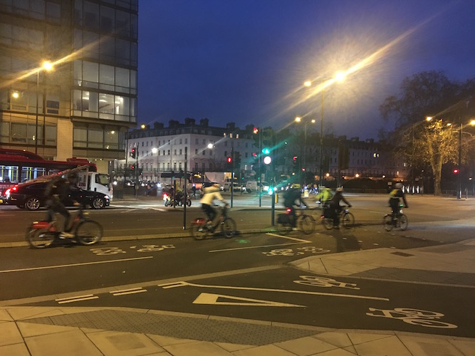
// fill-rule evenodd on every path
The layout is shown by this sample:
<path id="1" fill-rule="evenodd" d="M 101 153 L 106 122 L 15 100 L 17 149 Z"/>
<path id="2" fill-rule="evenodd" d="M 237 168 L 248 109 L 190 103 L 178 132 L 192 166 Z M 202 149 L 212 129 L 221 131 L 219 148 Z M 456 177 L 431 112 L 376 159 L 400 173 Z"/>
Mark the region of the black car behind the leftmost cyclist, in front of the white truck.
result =
<path id="1" fill-rule="evenodd" d="M 16 205 L 21 209 L 38 210 L 46 203 L 45 190 L 47 181 L 30 181 L 15 185 L 6 193 L 7 204 Z M 66 206 L 73 206 L 74 201 L 93 209 L 103 209 L 110 204 L 109 197 L 100 192 L 83 189 L 70 189 Z"/>

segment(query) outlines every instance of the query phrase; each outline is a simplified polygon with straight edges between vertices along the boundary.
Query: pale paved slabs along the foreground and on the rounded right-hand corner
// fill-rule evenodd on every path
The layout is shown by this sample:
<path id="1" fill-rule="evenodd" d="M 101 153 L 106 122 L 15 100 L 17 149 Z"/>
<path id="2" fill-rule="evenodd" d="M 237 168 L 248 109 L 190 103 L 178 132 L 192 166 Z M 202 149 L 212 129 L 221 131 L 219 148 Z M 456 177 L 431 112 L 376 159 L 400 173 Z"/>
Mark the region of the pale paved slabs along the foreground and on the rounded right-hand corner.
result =
<path id="1" fill-rule="evenodd" d="M 474 231 L 472 222 L 466 224 Z M 432 235 L 437 225 L 434 231 L 424 232 Z M 475 288 L 475 239 L 409 250 L 333 253 L 292 265 L 328 277 Z M 21 303 L 0 302 L 0 355 L 475 355 L 475 339 L 468 337 L 318 328 L 163 310 Z"/>

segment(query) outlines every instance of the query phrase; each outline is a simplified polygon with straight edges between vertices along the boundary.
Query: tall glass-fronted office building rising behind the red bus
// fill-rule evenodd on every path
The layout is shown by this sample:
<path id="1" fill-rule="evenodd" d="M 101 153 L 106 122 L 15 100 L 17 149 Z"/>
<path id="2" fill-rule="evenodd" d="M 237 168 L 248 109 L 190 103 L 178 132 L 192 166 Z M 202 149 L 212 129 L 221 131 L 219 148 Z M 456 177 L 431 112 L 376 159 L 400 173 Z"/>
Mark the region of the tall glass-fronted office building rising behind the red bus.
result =
<path id="1" fill-rule="evenodd" d="M 1 147 L 53 158 L 61 144 L 77 157 L 123 158 L 137 122 L 138 0 L 0 6 Z"/>

